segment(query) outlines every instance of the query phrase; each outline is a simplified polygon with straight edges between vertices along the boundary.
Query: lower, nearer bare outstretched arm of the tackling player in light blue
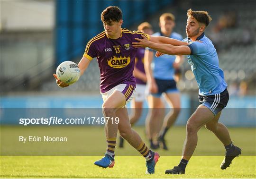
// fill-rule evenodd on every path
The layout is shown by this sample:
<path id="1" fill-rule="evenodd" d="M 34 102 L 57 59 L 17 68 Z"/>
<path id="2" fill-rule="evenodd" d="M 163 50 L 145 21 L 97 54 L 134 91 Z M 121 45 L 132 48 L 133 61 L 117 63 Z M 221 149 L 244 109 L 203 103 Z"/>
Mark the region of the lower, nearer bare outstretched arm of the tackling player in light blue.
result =
<path id="1" fill-rule="evenodd" d="M 149 47 L 150 49 L 154 49 L 155 51 L 159 51 L 168 55 L 190 55 L 191 50 L 187 45 L 174 46 L 171 44 L 162 44 L 162 43 L 154 43 L 150 42 L 146 39 L 135 38 L 138 42 L 134 42 L 133 47 Z"/>

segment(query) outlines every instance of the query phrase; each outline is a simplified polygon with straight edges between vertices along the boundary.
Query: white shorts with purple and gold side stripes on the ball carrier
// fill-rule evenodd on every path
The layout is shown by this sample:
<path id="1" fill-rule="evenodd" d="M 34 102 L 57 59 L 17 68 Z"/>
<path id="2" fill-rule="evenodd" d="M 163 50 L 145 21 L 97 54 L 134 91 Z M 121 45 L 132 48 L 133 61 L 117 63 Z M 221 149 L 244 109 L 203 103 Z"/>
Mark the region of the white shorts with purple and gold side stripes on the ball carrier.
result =
<path id="1" fill-rule="evenodd" d="M 101 93 L 103 102 L 105 102 L 108 99 L 108 97 L 116 90 L 125 95 L 126 102 L 130 102 L 133 99 L 134 94 L 136 93 L 136 90 L 132 85 L 120 84 L 113 87 L 105 93 Z"/>

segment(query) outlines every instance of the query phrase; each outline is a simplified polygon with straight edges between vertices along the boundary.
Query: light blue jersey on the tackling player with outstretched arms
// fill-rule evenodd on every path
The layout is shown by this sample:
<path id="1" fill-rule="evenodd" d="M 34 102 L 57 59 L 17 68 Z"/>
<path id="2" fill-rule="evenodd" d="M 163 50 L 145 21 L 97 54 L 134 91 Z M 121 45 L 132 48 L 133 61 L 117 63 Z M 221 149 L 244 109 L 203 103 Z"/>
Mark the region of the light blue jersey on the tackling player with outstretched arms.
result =
<path id="1" fill-rule="evenodd" d="M 204 33 L 196 41 L 189 38 L 183 41 L 190 43 L 188 47 L 191 55 L 188 55 L 188 63 L 196 78 L 200 95 L 213 95 L 223 92 L 227 88 L 224 73 L 219 68 L 219 58 L 212 42 Z"/>

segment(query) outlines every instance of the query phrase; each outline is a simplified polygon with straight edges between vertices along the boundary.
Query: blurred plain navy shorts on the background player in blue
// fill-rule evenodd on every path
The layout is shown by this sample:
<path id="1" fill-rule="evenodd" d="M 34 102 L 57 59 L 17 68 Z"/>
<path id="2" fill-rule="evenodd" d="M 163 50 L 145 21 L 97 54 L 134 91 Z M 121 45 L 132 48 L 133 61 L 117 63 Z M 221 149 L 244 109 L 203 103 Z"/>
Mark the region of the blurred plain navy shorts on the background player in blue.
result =
<path id="1" fill-rule="evenodd" d="M 176 82 L 174 80 L 156 79 L 155 83 L 158 87 L 158 93 L 151 93 L 151 95 L 156 98 L 160 98 L 163 93 L 176 93 L 179 92 L 176 87 Z"/>

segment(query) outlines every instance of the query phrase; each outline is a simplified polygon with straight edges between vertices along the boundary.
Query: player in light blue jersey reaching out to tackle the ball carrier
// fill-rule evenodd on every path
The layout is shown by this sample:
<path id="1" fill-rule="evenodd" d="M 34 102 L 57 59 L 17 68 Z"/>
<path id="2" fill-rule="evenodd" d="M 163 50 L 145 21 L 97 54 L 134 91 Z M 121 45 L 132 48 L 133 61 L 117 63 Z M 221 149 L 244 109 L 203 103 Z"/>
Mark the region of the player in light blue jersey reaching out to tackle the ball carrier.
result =
<path id="1" fill-rule="evenodd" d="M 203 125 L 212 131 L 226 148 L 225 158 L 220 165 L 222 170 L 229 167 L 231 161 L 241 154 L 241 149 L 233 145 L 228 128 L 219 122 L 221 110 L 229 101 L 229 93 L 223 71 L 219 68 L 217 52 L 210 39 L 204 34 L 211 17 L 206 11 L 192 11 L 191 9 L 188 10 L 187 16 L 186 34 L 188 38 L 184 39 L 185 42 L 165 37 L 151 37 L 152 42 L 146 38 L 142 40 L 136 38 L 139 43 L 133 43 L 135 47 L 149 47 L 160 51 L 156 53 L 156 56 L 162 53 L 188 55 L 188 62 L 199 86 L 201 105 L 187 122 L 182 160 L 178 166 L 166 170 L 166 174 L 185 173 L 186 165 L 197 145 L 197 132 Z"/>

